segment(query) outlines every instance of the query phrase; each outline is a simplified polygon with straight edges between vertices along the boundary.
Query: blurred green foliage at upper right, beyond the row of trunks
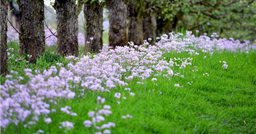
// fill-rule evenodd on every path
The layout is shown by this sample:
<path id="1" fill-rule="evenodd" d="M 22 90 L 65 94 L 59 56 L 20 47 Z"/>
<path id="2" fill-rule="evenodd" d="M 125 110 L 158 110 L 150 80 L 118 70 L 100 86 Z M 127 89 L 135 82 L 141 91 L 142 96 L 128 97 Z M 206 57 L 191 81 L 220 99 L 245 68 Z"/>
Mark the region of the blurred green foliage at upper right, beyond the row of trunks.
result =
<path id="1" fill-rule="evenodd" d="M 200 34 L 216 32 L 220 38 L 255 40 L 254 0 L 150 0 L 150 3 L 158 18 L 170 21 L 166 25 L 185 25 L 189 31 L 199 30 Z"/>

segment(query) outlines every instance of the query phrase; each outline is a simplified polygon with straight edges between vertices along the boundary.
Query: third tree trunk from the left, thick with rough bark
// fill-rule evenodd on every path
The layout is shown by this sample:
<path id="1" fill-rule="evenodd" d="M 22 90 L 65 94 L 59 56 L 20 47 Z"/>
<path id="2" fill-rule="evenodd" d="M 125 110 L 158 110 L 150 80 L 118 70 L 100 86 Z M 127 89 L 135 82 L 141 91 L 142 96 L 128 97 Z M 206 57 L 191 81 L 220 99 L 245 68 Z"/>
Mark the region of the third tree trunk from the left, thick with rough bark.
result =
<path id="1" fill-rule="evenodd" d="M 57 54 L 78 56 L 78 18 L 73 0 L 55 0 L 57 14 Z"/>

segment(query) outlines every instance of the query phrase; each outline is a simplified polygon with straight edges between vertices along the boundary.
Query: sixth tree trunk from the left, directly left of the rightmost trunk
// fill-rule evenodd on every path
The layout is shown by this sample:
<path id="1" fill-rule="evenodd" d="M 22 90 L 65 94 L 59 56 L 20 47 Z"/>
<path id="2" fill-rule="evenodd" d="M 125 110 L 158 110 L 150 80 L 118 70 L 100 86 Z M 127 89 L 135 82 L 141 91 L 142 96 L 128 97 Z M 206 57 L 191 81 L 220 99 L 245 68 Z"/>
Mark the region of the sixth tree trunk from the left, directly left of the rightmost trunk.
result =
<path id="1" fill-rule="evenodd" d="M 129 0 L 128 5 L 128 42 L 134 42 L 134 44 L 143 44 L 143 15 L 141 6 L 136 0 Z"/>

